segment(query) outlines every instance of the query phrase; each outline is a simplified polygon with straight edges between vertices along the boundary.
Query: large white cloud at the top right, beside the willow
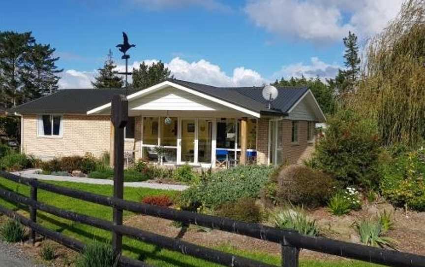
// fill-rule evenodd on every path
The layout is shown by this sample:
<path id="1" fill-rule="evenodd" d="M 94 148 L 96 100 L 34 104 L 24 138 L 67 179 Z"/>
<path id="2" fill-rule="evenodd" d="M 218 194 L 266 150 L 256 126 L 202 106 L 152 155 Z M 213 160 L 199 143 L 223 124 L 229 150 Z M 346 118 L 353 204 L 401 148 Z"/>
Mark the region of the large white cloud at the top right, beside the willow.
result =
<path id="1" fill-rule="evenodd" d="M 271 33 L 314 41 L 361 37 L 382 30 L 403 0 L 249 0 L 244 11 Z"/>

